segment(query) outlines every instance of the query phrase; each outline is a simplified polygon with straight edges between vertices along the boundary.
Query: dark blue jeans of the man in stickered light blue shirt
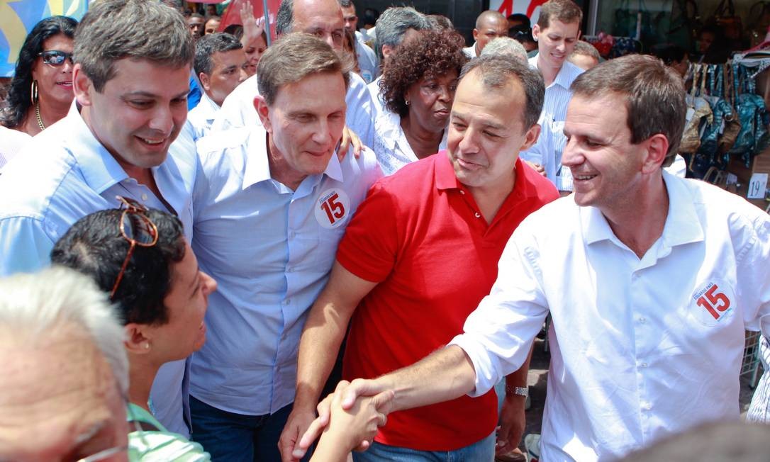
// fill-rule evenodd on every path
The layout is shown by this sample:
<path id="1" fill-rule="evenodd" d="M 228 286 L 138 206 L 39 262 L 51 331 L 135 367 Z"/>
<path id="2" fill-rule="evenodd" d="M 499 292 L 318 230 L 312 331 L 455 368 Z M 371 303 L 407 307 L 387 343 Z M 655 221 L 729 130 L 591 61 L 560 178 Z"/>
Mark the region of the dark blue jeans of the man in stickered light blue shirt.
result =
<path id="1" fill-rule="evenodd" d="M 209 406 L 190 396 L 192 440 L 226 462 L 275 462 L 281 460 L 278 439 L 292 405 L 273 414 L 246 416 Z"/>

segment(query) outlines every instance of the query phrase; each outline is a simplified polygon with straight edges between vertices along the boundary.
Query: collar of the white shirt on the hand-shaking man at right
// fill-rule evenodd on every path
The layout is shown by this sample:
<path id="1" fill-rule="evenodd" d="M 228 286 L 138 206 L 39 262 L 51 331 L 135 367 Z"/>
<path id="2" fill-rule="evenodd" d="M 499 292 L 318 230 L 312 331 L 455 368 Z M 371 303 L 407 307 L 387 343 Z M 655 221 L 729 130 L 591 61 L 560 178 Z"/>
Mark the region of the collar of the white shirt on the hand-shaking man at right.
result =
<path id="1" fill-rule="evenodd" d="M 703 240 L 703 229 L 685 182 L 663 172 L 668 192 L 668 215 L 661 236 L 663 246 L 670 248 Z M 601 240 L 618 242 L 610 224 L 597 207 L 581 207 L 581 223 L 587 244 Z"/>

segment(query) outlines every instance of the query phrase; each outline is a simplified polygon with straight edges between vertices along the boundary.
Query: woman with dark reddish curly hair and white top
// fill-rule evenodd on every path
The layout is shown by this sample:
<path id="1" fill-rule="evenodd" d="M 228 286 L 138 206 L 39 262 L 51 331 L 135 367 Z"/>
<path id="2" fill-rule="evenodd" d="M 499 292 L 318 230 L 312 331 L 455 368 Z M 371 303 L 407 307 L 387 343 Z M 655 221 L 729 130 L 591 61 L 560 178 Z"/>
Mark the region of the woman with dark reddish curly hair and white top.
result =
<path id="1" fill-rule="evenodd" d="M 391 56 L 380 80 L 387 110 L 374 122 L 373 150 L 386 175 L 447 147 L 463 44 L 457 32 L 422 31 Z"/>

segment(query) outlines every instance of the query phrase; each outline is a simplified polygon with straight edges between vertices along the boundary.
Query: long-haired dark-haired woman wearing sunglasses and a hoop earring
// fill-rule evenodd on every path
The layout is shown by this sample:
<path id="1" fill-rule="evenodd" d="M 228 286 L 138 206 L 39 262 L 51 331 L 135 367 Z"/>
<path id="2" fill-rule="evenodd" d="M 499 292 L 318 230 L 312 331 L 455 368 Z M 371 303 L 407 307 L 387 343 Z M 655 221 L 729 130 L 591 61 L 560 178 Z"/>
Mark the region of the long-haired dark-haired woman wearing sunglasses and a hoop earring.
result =
<path id="1" fill-rule="evenodd" d="M 18 53 L 0 123 L 35 136 L 72 105 L 72 37 L 78 22 L 52 16 L 38 22 Z"/>

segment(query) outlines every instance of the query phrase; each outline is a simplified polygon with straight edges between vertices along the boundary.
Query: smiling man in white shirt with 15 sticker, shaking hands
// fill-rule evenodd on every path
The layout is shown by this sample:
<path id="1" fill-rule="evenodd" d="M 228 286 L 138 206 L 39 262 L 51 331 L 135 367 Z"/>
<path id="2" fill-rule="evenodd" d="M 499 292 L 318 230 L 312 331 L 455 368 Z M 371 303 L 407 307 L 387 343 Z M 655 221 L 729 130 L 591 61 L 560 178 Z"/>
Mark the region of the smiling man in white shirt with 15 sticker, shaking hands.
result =
<path id="1" fill-rule="evenodd" d="M 464 334 L 411 367 L 354 380 L 343 407 L 382 390 L 396 391 L 393 410 L 485 393 L 524 363 L 550 313 L 542 460 L 617 460 L 739 419 L 745 330 L 768 330 L 770 217 L 663 172 L 686 105 L 659 60 L 613 59 L 572 88 L 574 194 L 516 229 Z"/>

